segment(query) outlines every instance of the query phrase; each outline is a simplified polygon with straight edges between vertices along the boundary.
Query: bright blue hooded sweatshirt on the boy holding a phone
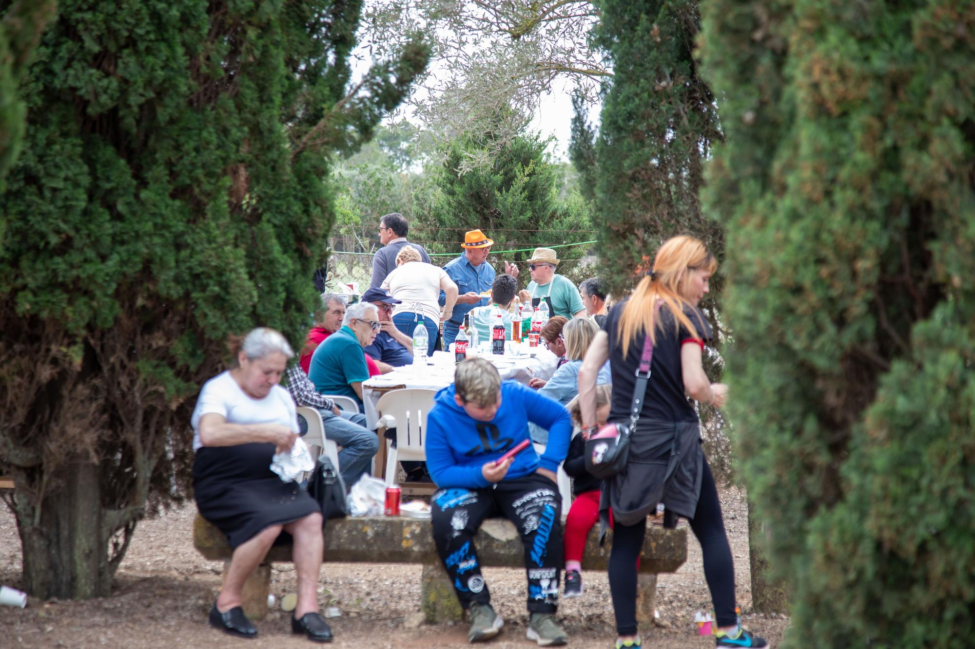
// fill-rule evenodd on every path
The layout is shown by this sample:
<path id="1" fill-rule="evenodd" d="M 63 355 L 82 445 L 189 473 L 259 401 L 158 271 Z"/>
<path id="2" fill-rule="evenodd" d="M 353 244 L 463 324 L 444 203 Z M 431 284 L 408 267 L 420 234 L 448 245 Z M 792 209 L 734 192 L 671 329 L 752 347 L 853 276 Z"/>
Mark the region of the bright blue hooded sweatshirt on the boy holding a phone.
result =
<path id="1" fill-rule="evenodd" d="M 478 489 L 490 482 L 481 467 L 528 438 L 528 422 L 549 431 L 548 446 L 539 457 L 533 446 L 515 456 L 504 479 L 535 473 L 541 467 L 556 472 L 565 460 L 572 422 L 559 401 L 543 397 L 518 381 L 501 384 L 501 407 L 487 422 L 472 419 L 453 401 L 453 385 L 437 393 L 427 416 L 427 471 L 437 486 Z"/>

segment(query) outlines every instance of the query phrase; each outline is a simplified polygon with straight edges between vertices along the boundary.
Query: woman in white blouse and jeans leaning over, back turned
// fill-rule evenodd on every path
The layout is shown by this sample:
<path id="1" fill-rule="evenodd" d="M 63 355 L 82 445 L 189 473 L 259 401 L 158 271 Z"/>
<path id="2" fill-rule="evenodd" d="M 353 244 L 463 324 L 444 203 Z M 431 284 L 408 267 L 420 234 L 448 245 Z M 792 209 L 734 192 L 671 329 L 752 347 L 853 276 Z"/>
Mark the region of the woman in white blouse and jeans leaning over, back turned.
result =
<path id="1" fill-rule="evenodd" d="M 416 325 L 425 326 L 430 336 L 427 354 L 433 354 L 441 321 L 453 315 L 457 285 L 443 268 L 421 261 L 419 250 L 404 246 L 396 255 L 396 270 L 386 276 L 382 287 L 401 301 L 393 309 L 393 325 L 409 336 Z M 447 295 L 443 314 L 439 303 L 441 290 Z"/>

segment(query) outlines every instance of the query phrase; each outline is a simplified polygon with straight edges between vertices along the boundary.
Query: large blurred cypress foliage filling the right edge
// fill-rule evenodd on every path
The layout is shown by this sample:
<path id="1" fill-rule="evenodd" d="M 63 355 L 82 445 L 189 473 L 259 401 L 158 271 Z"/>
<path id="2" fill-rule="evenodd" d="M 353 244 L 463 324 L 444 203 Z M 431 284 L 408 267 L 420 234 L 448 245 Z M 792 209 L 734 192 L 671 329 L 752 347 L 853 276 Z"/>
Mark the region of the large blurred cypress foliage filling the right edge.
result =
<path id="1" fill-rule="evenodd" d="M 975 4 L 705 14 L 731 413 L 787 646 L 968 646 Z"/>

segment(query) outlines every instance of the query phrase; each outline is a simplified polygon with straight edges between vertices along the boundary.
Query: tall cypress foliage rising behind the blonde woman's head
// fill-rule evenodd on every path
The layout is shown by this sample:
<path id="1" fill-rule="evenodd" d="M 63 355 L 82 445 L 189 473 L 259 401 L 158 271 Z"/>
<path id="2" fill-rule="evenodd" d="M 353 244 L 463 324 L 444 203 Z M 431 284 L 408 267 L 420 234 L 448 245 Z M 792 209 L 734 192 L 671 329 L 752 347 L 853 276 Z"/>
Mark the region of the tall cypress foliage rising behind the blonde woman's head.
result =
<path id="1" fill-rule="evenodd" d="M 596 4 L 602 19 L 593 41 L 614 76 L 604 92 L 598 137 L 586 127 L 582 103 L 574 102 L 570 151 L 580 174 L 595 178 L 601 273 L 621 295 L 638 279 L 634 268 L 647 270 L 656 248 L 674 235 L 696 236 L 722 257 L 722 229 L 697 201 L 703 162 L 722 134 L 714 96 L 694 60 L 698 3 Z M 716 278 L 713 295 L 720 288 Z M 719 305 L 712 299 L 704 306 L 715 313 Z M 716 317 L 712 325 L 719 325 Z"/>

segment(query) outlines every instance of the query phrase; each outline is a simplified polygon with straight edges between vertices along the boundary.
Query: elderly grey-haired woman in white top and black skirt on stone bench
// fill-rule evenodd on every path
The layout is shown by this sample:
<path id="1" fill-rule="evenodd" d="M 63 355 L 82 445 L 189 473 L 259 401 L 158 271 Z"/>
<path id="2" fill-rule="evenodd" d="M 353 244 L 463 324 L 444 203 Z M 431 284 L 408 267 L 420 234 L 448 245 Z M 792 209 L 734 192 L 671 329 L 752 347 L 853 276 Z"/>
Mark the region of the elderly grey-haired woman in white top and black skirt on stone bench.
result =
<path id="1" fill-rule="evenodd" d="M 282 531 L 294 539 L 298 601 L 292 631 L 328 642 L 331 629 L 318 614 L 322 567 L 322 513 L 295 482 L 270 470 L 276 450 L 292 447 L 298 431 L 294 401 L 281 376 L 294 356 L 284 336 L 256 328 L 237 344 L 234 366 L 204 384 L 193 410 L 193 491 L 204 518 L 233 549 L 210 624 L 233 635 L 257 630 L 241 607 L 244 582 Z"/>

